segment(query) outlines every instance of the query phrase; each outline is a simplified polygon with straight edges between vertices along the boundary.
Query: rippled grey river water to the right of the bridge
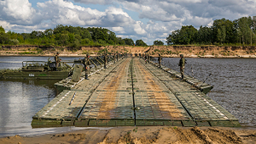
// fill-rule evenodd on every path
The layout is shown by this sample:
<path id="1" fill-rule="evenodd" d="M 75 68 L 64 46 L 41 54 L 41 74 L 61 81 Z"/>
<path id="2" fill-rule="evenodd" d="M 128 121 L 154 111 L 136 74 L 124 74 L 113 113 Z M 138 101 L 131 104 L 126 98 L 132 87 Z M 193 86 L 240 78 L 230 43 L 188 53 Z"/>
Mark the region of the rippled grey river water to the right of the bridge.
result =
<path id="1" fill-rule="evenodd" d="M 163 64 L 179 71 L 179 59 L 163 58 Z M 256 59 L 186 58 L 186 62 L 186 75 L 214 86 L 208 93 L 210 98 L 243 126 L 256 128 Z"/>

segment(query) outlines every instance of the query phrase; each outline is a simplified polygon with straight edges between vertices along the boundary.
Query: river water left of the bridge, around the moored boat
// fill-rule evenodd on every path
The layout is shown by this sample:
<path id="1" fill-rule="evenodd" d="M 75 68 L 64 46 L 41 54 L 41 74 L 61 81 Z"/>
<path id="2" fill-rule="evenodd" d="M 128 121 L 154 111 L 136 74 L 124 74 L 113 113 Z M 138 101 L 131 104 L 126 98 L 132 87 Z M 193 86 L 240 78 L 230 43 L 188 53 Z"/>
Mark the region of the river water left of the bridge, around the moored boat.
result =
<path id="1" fill-rule="evenodd" d="M 48 57 L 0 57 L 0 69 L 19 68 L 24 60 L 47 61 Z M 56 96 L 53 84 L 57 81 L 59 80 L 0 80 L 0 137 L 37 135 L 74 129 L 31 128 L 32 116 Z"/>

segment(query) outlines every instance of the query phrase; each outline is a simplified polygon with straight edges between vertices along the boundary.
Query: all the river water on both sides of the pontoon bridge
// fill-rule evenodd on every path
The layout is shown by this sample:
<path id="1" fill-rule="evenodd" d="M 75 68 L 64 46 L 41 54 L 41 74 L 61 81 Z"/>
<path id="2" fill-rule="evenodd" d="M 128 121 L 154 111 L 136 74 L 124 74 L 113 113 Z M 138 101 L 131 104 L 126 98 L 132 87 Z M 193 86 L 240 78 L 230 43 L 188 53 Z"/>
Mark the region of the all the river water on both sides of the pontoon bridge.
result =
<path id="1" fill-rule="evenodd" d="M 50 58 L 53 60 L 53 57 Z M 78 58 L 61 58 L 74 60 Z M 0 57 L 0 69 L 19 68 L 24 60 L 48 57 Z M 208 96 L 246 127 L 256 128 L 256 59 L 186 58 L 185 74 L 214 86 Z M 163 58 L 163 65 L 179 71 L 179 58 Z M 192 67 L 192 69 L 191 69 Z M 192 73 L 193 70 L 193 73 Z M 0 80 L 0 137 L 41 135 L 84 128 L 31 128 L 32 116 L 56 96 L 58 80 Z"/>

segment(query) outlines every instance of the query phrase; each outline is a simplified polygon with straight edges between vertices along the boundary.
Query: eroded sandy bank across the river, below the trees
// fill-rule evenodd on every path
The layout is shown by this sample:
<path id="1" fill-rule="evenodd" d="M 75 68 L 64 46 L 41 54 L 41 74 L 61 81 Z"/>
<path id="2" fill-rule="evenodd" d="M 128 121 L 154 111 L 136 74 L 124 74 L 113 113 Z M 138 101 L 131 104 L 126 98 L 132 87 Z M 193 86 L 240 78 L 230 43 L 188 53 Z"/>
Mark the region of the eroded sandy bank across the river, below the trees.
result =
<path id="1" fill-rule="evenodd" d="M 13 45 L 0 46 L 0 56 L 55 56 L 84 57 L 87 53 L 98 56 L 104 51 L 110 53 L 149 54 L 157 57 L 187 58 L 256 58 L 256 46 L 81 46 L 76 50 L 60 46 Z"/>

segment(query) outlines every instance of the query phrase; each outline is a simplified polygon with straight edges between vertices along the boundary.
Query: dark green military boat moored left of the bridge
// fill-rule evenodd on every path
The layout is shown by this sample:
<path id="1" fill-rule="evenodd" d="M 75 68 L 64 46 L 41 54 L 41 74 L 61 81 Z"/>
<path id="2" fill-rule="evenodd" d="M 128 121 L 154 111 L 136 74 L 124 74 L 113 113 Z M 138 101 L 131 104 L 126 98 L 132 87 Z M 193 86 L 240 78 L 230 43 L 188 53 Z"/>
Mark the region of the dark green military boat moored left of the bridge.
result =
<path id="1" fill-rule="evenodd" d="M 65 62 L 56 63 L 45 61 L 23 61 L 22 68 L 16 70 L 0 70 L 0 79 L 64 79 L 72 71 L 72 67 Z"/>

